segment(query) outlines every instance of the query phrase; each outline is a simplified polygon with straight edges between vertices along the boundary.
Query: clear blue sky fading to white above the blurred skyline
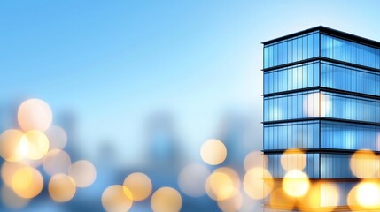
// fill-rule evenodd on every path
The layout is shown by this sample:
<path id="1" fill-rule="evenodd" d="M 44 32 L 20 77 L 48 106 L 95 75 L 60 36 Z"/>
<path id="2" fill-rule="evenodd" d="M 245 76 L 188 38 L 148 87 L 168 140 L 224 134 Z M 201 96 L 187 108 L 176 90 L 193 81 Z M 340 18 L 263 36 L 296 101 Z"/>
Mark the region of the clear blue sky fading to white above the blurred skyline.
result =
<path id="1" fill-rule="evenodd" d="M 0 104 L 30 97 L 78 122 L 95 157 L 111 140 L 120 161 L 143 152 L 145 125 L 174 117 L 190 158 L 226 113 L 252 122 L 260 148 L 260 42 L 323 25 L 380 41 L 377 1 L 3 1 Z M 122 149 L 122 150 L 120 150 Z"/>

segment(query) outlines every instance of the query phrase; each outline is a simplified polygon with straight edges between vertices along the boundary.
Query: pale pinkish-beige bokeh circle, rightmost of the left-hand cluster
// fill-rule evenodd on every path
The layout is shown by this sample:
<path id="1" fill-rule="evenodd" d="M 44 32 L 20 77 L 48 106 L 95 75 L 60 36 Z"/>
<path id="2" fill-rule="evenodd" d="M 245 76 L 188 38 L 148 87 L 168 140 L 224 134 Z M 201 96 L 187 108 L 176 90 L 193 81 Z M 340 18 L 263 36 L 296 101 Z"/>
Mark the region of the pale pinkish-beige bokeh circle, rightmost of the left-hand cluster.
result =
<path id="1" fill-rule="evenodd" d="M 89 161 L 81 160 L 70 166 L 69 175 L 74 179 L 76 186 L 87 187 L 97 178 L 97 170 Z"/>

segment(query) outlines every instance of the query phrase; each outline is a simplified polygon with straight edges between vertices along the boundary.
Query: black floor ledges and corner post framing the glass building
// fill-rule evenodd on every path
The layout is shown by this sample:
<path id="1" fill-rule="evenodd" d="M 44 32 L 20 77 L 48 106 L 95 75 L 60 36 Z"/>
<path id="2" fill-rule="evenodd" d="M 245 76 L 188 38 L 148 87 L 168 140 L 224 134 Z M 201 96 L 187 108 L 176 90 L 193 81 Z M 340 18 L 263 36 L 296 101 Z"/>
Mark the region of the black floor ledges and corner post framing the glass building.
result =
<path id="1" fill-rule="evenodd" d="M 272 92 L 272 93 L 266 93 L 265 91 L 265 84 L 263 85 L 263 90 L 264 94 L 262 95 L 265 99 L 268 99 L 269 97 L 275 97 L 278 95 L 291 95 L 291 94 L 300 94 L 301 92 L 317 92 L 318 94 L 321 94 L 321 92 L 327 92 L 329 94 L 337 94 L 337 95 L 346 95 L 344 98 L 366 98 L 368 100 L 373 100 L 373 101 L 380 101 L 380 95 L 374 95 L 374 94 L 366 94 L 360 91 L 354 92 L 354 91 L 349 91 L 345 89 L 338 89 L 334 87 L 324 87 L 322 86 L 322 68 L 321 64 L 322 63 L 331 63 L 333 64 L 339 64 L 339 65 L 344 65 L 347 67 L 352 67 L 355 69 L 361 69 L 364 71 L 368 72 L 377 72 L 380 74 L 380 68 L 376 67 L 370 67 L 367 65 L 363 64 L 355 64 L 355 63 L 349 63 L 345 62 L 343 60 L 335 59 L 335 58 L 329 58 L 329 57 L 322 57 L 322 34 L 328 35 L 330 37 L 334 37 L 337 39 L 345 40 L 347 42 L 355 42 L 359 43 L 361 45 L 365 45 L 367 47 L 372 47 L 376 49 L 380 49 L 380 42 L 376 42 L 373 40 L 369 40 L 367 38 L 363 38 L 361 36 L 357 36 L 354 34 L 347 34 L 345 32 L 341 32 L 329 27 L 313 27 L 309 28 L 303 31 L 299 31 L 294 34 L 288 34 L 282 37 L 275 38 L 273 40 L 270 40 L 268 42 L 262 42 L 264 44 L 264 47 L 276 43 L 276 42 L 283 42 L 284 40 L 288 39 L 293 39 L 295 37 L 298 37 L 300 35 L 305 35 L 305 34 L 318 34 L 318 54 L 316 57 L 310 57 L 310 58 L 305 58 L 305 59 L 300 59 L 291 63 L 283 63 L 283 64 L 277 64 L 273 65 L 270 67 L 265 67 L 261 70 L 265 74 L 266 72 L 270 72 L 273 70 L 278 70 L 286 67 L 291 67 L 293 65 L 299 65 L 299 64 L 306 64 L 306 63 L 313 63 L 316 62 L 318 63 L 318 72 L 319 72 L 319 82 L 318 86 L 313 86 L 313 87 L 301 87 L 297 89 L 287 89 L 283 91 L 277 91 L 277 92 Z M 293 53 L 294 54 L 294 53 Z M 263 50 L 263 55 L 265 56 L 265 52 Z M 265 57 L 263 57 L 263 64 L 265 64 Z M 279 71 L 280 72 L 280 71 Z M 359 72 L 359 71 L 358 71 Z M 265 82 L 266 83 L 266 82 Z M 380 83 L 380 81 L 379 81 Z M 349 118 L 338 118 L 338 117 L 322 117 L 321 116 L 321 95 L 319 95 L 319 101 L 318 101 L 318 116 L 315 117 L 296 117 L 296 118 L 290 118 L 290 119 L 280 119 L 280 120 L 264 120 L 262 124 L 264 127 L 268 125 L 274 125 L 274 124 L 286 124 L 286 123 L 302 123 L 302 122 L 307 122 L 307 121 L 316 121 L 319 125 L 319 136 L 318 136 L 318 148 L 302 148 L 306 154 L 319 154 L 319 176 L 318 178 L 310 178 L 312 181 L 318 181 L 318 182 L 358 182 L 361 180 L 361 178 L 321 178 L 321 154 L 333 154 L 333 155 L 353 155 L 354 152 L 356 152 L 359 149 L 346 149 L 346 148 L 322 148 L 321 146 L 321 127 L 322 127 L 322 122 L 328 121 L 328 122 L 334 122 L 334 123 L 342 123 L 342 124 L 352 124 L 352 125 L 368 125 L 368 126 L 380 126 L 380 121 L 368 121 L 368 120 L 357 120 L 357 119 L 349 119 Z M 265 107 L 263 107 L 263 114 L 268 113 L 269 111 L 266 111 Z M 264 115 L 266 116 L 266 115 Z M 358 118 L 359 119 L 359 118 Z M 301 125 L 301 124 L 299 124 Z M 265 144 L 265 133 L 264 133 L 265 128 L 263 129 L 263 134 L 264 134 L 264 139 L 263 139 L 263 147 L 266 147 Z M 380 127 L 379 127 L 380 130 Z M 286 151 L 287 148 L 274 148 L 274 149 L 269 149 L 269 148 L 264 148 L 262 151 L 265 155 L 279 155 L 283 154 L 284 151 Z M 380 155 L 380 149 L 372 149 L 373 152 L 376 155 Z M 281 181 L 282 178 L 276 178 L 275 181 Z M 346 209 L 345 206 L 339 207 L 342 209 Z"/>

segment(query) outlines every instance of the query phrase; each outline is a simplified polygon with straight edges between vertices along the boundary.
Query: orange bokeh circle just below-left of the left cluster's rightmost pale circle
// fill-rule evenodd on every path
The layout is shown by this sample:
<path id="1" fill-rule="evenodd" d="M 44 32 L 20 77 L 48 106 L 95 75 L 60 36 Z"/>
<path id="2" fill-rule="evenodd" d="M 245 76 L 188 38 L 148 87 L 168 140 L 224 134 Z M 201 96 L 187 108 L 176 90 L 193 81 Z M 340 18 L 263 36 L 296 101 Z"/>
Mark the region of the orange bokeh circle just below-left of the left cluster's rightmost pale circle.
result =
<path id="1" fill-rule="evenodd" d="M 75 192 L 75 183 L 70 176 L 57 174 L 50 178 L 49 194 L 52 200 L 58 202 L 70 201 L 73 199 Z"/>

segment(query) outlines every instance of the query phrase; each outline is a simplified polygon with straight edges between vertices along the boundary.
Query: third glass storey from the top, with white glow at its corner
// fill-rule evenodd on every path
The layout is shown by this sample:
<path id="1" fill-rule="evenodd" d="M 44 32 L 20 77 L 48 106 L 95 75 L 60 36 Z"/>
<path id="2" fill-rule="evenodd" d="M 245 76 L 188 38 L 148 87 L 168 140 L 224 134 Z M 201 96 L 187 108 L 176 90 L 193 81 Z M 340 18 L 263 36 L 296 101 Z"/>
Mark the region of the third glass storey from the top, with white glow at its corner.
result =
<path id="1" fill-rule="evenodd" d="M 319 116 L 380 123 L 380 101 L 316 91 L 264 98 L 264 121 Z"/>

